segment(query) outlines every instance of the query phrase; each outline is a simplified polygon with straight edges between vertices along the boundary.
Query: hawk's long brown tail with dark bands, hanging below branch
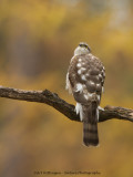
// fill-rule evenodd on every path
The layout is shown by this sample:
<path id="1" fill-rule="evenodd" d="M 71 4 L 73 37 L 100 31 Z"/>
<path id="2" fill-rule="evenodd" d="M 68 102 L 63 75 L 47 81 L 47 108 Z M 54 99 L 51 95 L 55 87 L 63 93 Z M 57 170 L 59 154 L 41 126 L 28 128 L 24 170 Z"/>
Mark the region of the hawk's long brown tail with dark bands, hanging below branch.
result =
<path id="1" fill-rule="evenodd" d="M 98 146 L 98 105 L 92 102 L 90 105 L 82 105 L 83 114 L 83 143 L 85 146 Z"/>

